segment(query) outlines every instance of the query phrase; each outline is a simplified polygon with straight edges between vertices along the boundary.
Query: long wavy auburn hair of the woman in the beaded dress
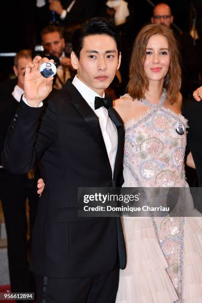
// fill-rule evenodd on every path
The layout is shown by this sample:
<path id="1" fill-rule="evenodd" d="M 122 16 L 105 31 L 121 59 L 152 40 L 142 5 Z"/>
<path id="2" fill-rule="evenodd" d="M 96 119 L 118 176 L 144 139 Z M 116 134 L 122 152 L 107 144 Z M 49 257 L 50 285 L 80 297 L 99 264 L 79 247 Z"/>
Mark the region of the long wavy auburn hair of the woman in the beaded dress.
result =
<path id="1" fill-rule="evenodd" d="M 129 83 L 127 91 L 133 99 L 145 98 L 145 92 L 149 89 L 149 79 L 146 75 L 144 64 L 146 60 L 146 48 L 153 35 L 162 35 L 168 41 L 170 53 L 170 67 L 164 78 L 163 87 L 167 90 L 167 99 L 173 104 L 177 100 L 181 87 L 181 68 L 179 64 L 179 50 L 177 41 L 171 29 L 161 24 L 150 24 L 142 28 L 138 34 L 130 62 Z"/>

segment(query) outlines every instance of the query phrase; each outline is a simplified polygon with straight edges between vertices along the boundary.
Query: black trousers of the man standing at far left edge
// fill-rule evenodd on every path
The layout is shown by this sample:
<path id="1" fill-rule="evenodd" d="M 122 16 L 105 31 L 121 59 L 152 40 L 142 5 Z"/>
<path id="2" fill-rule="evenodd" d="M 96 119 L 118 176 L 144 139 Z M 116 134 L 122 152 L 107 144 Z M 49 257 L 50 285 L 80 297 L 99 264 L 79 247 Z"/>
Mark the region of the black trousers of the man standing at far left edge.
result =
<path id="1" fill-rule="evenodd" d="M 30 229 L 36 217 L 39 195 L 36 180 L 0 169 L 0 200 L 7 233 L 8 267 L 12 292 L 34 292 L 35 277 L 28 269 L 26 198 L 29 199 Z M 36 183 L 36 186 L 35 186 Z"/>

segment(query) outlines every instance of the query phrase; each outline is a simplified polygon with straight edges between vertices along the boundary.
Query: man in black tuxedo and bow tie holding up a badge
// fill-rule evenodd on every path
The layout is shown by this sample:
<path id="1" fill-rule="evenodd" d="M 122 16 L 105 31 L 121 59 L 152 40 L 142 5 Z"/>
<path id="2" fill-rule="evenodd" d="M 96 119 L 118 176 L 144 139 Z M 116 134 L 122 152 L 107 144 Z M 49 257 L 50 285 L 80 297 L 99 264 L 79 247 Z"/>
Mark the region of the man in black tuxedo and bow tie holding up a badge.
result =
<path id="1" fill-rule="evenodd" d="M 38 160 L 46 183 L 33 230 L 38 302 L 114 303 L 119 267 L 126 265 L 120 218 L 78 217 L 77 189 L 120 185 L 123 124 L 111 102 L 101 99 L 120 66 L 120 38 L 111 23 L 94 18 L 75 31 L 72 45 L 77 75 L 50 97 L 38 133 L 52 78 L 39 71 L 48 58 L 27 65 L 25 96 L 2 159 L 15 173 Z"/>

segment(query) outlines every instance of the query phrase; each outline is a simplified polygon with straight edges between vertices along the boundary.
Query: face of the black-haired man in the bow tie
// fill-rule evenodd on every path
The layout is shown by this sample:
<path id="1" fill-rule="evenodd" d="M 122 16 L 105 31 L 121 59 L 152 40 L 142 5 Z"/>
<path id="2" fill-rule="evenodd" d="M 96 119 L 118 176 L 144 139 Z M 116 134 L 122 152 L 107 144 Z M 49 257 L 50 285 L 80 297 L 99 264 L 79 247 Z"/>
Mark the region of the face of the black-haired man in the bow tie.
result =
<path id="1" fill-rule="evenodd" d="M 116 42 L 112 37 L 91 35 L 84 38 L 80 58 L 72 52 L 71 59 L 78 78 L 102 96 L 120 66 L 121 55 L 118 57 Z"/>

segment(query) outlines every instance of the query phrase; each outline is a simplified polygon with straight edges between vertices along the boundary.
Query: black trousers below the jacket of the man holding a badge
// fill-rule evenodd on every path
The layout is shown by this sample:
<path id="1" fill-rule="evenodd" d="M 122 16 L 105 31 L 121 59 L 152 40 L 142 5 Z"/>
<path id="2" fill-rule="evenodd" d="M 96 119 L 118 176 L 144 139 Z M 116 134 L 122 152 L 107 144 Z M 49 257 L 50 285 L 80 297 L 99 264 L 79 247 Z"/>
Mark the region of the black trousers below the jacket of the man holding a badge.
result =
<path id="1" fill-rule="evenodd" d="M 107 274 L 62 279 L 36 275 L 37 303 L 114 303 L 118 290 L 119 264 Z"/>

